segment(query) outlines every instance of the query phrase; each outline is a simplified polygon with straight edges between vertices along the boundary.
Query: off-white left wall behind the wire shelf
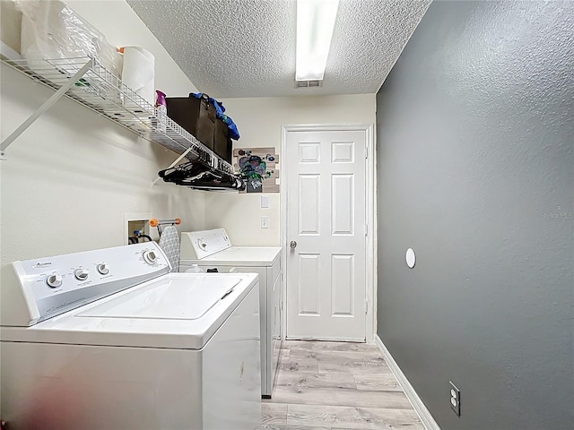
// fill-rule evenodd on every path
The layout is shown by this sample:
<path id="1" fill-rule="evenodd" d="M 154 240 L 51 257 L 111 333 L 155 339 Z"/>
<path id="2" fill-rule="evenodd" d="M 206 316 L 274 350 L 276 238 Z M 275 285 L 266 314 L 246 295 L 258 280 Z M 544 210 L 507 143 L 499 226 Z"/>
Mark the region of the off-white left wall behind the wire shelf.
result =
<path id="1" fill-rule="evenodd" d="M 152 51 L 161 64 L 157 88 L 195 90 L 124 0 L 70 4 L 114 45 Z M 17 39 L 4 30 L 3 39 Z M 4 139 L 53 90 L 4 65 L 1 73 Z M 14 260 L 123 245 L 126 213 L 178 217 L 180 229 L 204 228 L 204 193 L 162 182 L 152 187 L 157 172 L 176 157 L 72 100 L 59 100 L 0 162 L 3 278 Z"/>

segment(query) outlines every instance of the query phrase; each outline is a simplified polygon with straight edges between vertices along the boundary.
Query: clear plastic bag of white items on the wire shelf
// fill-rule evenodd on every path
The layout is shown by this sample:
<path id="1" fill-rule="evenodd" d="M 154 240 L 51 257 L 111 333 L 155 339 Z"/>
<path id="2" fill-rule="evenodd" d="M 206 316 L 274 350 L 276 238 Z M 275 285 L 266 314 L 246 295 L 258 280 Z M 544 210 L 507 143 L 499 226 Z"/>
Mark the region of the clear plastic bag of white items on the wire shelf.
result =
<path id="1" fill-rule="evenodd" d="M 21 54 L 30 68 L 41 67 L 39 59 L 67 59 L 90 56 L 109 72 L 120 76 L 122 56 L 106 37 L 60 1 L 16 0 L 22 12 Z M 62 68 L 66 68 L 66 62 Z M 66 72 L 74 73 L 76 61 Z M 74 64 L 74 65 L 72 65 Z M 38 73 L 40 73 L 38 71 Z"/>

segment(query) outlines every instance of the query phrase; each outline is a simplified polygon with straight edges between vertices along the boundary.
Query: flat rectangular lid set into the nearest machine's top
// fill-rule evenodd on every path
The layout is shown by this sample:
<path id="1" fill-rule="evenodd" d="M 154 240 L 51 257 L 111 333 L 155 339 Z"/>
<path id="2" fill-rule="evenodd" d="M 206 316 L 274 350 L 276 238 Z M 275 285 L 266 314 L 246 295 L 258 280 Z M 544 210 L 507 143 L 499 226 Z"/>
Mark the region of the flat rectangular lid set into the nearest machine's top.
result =
<path id="1" fill-rule="evenodd" d="M 239 282 L 241 279 L 238 277 L 164 277 L 76 316 L 196 320 L 228 296 Z"/>

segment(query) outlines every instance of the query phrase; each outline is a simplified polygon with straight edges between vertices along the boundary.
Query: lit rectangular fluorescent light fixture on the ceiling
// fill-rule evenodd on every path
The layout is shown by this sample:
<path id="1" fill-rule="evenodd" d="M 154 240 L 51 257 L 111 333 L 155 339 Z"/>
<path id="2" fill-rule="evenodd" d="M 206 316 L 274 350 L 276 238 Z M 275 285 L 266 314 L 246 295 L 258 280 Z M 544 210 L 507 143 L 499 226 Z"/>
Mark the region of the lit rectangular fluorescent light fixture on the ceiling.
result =
<path id="1" fill-rule="evenodd" d="M 295 81 L 322 81 L 339 0 L 297 0 Z"/>

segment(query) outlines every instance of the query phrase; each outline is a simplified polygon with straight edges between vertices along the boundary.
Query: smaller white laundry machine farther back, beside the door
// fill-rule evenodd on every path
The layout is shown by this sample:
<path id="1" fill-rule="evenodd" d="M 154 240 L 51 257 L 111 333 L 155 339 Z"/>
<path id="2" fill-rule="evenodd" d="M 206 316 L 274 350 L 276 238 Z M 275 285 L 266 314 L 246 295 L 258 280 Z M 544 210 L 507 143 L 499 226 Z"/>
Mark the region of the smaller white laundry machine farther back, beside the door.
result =
<path id="1" fill-rule="evenodd" d="M 212 272 L 259 275 L 261 395 L 270 399 L 277 374 L 281 333 L 281 247 L 233 246 L 225 228 L 181 233 L 179 271 L 197 265 Z"/>

